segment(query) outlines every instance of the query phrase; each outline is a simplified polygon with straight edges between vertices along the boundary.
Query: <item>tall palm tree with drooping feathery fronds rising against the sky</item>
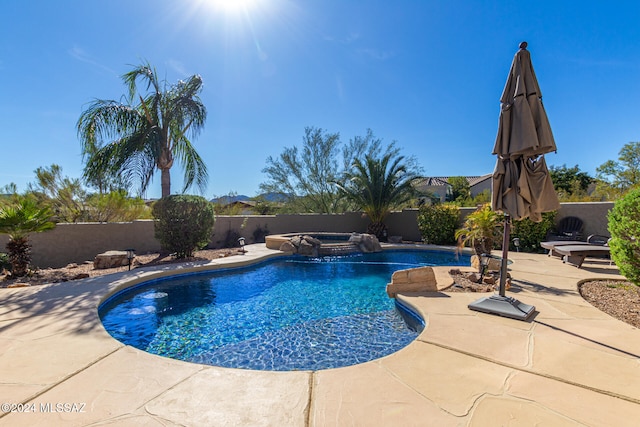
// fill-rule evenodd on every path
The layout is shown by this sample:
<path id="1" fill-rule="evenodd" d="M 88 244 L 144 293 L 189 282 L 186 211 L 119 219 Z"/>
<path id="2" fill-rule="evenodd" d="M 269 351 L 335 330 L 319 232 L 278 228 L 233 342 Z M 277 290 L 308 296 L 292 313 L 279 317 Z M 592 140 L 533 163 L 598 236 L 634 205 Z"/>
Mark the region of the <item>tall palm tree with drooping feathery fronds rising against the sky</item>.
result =
<path id="1" fill-rule="evenodd" d="M 154 68 L 145 63 L 122 76 L 129 90 L 128 103 L 96 100 L 78 119 L 78 136 L 87 163 L 84 177 L 101 183 L 120 177 L 140 183 L 144 193 L 156 169 L 161 173 L 162 197 L 171 194 L 170 170 L 174 160 L 184 168 L 184 189 L 197 184 L 204 191 L 207 168 L 191 145 L 191 137 L 204 127 L 207 111 L 198 96 L 202 79 L 189 77 L 167 87 Z M 148 93 L 139 95 L 139 80 Z"/>

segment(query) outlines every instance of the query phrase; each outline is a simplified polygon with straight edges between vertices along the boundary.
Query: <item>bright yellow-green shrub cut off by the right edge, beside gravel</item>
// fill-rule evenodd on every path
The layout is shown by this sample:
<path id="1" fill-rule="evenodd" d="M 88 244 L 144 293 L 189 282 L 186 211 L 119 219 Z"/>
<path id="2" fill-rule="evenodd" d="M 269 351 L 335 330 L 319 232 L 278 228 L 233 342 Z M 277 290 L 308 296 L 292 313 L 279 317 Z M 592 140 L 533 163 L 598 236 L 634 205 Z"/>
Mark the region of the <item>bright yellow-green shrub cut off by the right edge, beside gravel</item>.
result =
<path id="1" fill-rule="evenodd" d="M 640 284 L 640 189 L 618 199 L 609 212 L 611 258 L 620 273 Z"/>

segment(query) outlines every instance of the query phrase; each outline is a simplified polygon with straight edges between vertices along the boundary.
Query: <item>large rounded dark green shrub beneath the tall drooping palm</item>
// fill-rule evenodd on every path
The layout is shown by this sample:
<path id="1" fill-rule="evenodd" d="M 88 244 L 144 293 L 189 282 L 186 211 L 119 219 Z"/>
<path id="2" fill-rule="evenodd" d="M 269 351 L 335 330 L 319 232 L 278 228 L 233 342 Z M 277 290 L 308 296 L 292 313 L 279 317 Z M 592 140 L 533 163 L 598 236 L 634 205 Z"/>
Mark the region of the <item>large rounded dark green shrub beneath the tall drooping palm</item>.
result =
<path id="1" fill-rule="evenodd" d="M 175 252 L 176 258 L 193 256 L 211 238 L 215 214 L 204 197 L 172 195 L 153 206 L 155 237 L 162 247 Z"/>

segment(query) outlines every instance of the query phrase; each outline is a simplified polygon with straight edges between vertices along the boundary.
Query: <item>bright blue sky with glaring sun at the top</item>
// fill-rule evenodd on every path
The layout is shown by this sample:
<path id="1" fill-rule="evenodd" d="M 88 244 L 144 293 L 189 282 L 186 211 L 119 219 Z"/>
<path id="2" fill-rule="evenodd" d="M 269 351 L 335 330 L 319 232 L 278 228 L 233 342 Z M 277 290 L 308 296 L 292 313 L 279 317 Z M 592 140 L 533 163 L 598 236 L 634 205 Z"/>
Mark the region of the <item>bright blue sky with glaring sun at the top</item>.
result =
<path id="1" fill-rule="evenodd" d="M 429 176 L 482 175 L 499 98 L 526 40 L 557 154 L 591 175 L 640 140 L 640 2 L 50 0 L 0 6 L 0 186 L 53 163 L 80 177 L 76 121 L 148 60 L 169 83 L 204 81 L 194 140 L 206 197 L 254 196 L 268 156 L 304 128 L 368 128 Z M 172 169 L 172 190 L 182 187 Z M 195 191 L 195 190 L 194 190 Z M 148 197 L 159 197 L 156 175 Z"/>

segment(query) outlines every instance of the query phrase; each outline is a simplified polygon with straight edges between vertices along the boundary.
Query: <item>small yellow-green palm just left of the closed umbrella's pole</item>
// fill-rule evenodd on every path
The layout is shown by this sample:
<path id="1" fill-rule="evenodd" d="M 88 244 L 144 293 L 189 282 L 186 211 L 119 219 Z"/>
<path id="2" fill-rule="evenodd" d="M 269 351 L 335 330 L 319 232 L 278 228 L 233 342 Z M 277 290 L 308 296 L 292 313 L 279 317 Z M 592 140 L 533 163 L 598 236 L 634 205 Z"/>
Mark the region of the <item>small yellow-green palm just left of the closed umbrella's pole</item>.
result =
<path id="1" fill-rule="evenodd" d="M 475 212 L 467 215 L 462 228 L 456 230 L 458 247 L 467 244 L 473 247 L 476 255 L 491 255 L 493 244 L 502 236 L 502 216 L 484 204 Z"/>

